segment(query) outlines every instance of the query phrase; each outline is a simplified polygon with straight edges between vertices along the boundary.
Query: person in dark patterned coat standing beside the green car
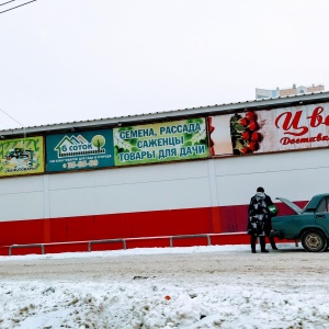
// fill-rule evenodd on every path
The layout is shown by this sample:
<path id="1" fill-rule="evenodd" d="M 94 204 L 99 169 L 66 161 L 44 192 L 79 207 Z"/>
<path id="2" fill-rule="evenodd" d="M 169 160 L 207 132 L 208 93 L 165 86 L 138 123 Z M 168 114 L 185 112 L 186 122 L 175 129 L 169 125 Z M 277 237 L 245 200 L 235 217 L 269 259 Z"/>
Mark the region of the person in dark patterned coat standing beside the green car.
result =
<path id="1" fill-rule="evenodd" d="M 265 248 L 265 236 L 271 224 L 271 213 L 268 208 L 269 197 L 263 188 L 258 188 L 248 207 L 248 234 L 250 235 L 251 252 L 256 253 L 256 241 L 259 238 L 261 252 L 269 252 Z M 271 200 L 271 197 L 270 197 Z M 271 201 L 272 202 L 272 201 Z"/>

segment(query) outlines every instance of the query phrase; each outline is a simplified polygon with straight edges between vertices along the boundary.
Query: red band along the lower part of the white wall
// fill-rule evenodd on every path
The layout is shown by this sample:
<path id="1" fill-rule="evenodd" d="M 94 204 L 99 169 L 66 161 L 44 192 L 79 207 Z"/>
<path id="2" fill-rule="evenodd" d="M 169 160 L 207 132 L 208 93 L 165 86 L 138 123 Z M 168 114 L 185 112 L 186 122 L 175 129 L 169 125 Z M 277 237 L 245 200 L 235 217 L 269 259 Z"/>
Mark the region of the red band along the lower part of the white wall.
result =
<path id="1" fill-rule="evenodd" d="M 292 213 L 282 203 L 277 207 L 280 215 Z M 246 231 L 247 209 L 236 205 L 1 222 L 0 246 Z"/>

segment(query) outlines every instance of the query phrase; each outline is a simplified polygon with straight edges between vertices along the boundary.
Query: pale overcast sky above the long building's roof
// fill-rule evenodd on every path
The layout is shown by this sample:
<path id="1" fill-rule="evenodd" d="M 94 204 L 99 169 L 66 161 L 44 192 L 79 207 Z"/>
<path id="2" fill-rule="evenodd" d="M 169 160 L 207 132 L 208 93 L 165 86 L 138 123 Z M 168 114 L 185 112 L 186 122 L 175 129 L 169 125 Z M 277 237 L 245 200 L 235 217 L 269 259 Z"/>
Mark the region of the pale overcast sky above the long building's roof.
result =
<path id="1" fill-rule="evenodd" d="M 1 112 L 0 128 L 328 90 L 328 0 L 37 0 L 0 14 L 0 109 L 14 118 Z"/>

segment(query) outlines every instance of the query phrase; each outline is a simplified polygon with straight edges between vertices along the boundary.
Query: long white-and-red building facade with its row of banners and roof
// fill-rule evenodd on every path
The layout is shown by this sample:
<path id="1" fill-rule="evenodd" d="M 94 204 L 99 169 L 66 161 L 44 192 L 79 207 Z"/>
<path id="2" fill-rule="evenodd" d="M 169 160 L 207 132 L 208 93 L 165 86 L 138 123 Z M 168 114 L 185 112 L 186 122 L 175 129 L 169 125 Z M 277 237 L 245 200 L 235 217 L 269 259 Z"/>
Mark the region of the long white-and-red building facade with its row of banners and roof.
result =
<path id="1" fill-rule="evenodd" d="M 260 185 L 328 192 L 328 126 L 321 92 L 2 131 L 0 246 L 245 232 Z"/>

